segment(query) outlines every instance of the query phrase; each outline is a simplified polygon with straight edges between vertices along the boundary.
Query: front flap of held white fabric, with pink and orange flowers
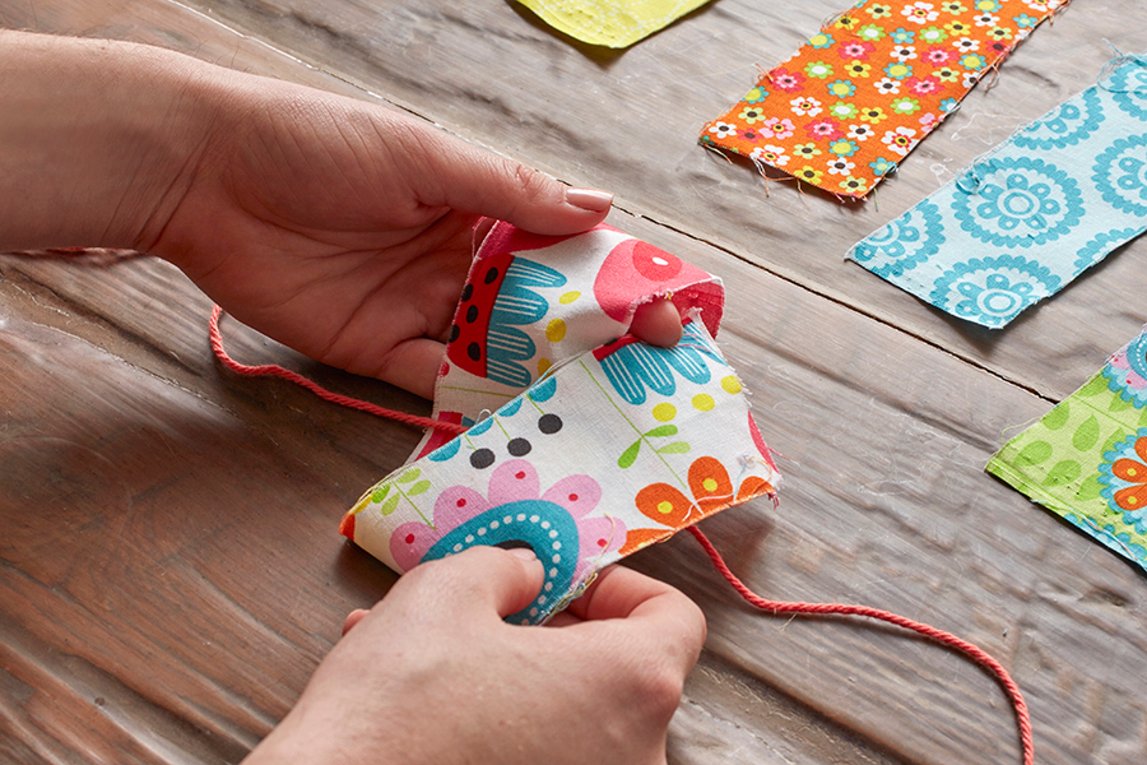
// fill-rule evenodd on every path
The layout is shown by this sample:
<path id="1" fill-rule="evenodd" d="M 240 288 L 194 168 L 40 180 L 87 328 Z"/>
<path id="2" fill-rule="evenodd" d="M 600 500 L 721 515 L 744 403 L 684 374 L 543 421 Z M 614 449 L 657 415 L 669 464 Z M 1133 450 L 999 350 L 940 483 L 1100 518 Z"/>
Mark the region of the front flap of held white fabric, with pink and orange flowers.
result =
<path id="1" fill-rule="evenodd" d="M 674 348 L 627 335 L 551 370 L 370 489 L 341 531 L 399 572 L 529 546 L 545 584 L 509 620 L 536 624 L 603 565 L 778 479 L 740 380 L 692 321 Z"/>

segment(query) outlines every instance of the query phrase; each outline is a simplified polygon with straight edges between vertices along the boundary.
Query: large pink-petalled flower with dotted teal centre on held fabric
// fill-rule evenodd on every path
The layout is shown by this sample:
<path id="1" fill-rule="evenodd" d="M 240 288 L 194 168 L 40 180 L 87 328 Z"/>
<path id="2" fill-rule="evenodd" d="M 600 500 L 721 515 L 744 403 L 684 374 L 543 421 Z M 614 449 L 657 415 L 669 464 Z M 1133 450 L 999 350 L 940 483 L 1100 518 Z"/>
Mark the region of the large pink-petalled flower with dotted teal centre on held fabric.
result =
<path id="1" fill-rule="evenodd" d="M 539 620 L 603 555 L 625 544 L 621 521 L 586 517 L 601 500 L 601 486 L 592 477 L 572 475 L 545 493 L 540 490 L 530 462 L 507 460 L 490 476 L 485 497 L 467 485 L 451 486 L 435 501 L 432 525 L 414 521 L 395 529 L 390 554 L 408 571 L 476 545 L 528 546 L 545 565 L 545 584 L 538 598 L 508 620 Z"/>

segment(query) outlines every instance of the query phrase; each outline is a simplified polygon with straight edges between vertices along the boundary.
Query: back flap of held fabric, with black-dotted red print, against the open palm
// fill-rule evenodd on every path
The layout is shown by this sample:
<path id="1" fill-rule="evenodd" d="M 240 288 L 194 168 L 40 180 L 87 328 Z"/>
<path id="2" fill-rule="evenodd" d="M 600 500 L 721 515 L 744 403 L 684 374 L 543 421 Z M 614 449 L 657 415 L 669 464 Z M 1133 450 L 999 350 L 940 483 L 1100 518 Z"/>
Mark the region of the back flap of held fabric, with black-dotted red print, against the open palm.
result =
<path id="1" fill-rule="evenodd" d="M 637 307 L 663 296 L 717 333 L 720 280 L 677 256 L 604 224 L 574 236 L 496 224 L 462 288 L 432 416 L 474 424 L 554 365 L 624 335 Z M 413 456 L 450 437 L 429 431 Z"/>

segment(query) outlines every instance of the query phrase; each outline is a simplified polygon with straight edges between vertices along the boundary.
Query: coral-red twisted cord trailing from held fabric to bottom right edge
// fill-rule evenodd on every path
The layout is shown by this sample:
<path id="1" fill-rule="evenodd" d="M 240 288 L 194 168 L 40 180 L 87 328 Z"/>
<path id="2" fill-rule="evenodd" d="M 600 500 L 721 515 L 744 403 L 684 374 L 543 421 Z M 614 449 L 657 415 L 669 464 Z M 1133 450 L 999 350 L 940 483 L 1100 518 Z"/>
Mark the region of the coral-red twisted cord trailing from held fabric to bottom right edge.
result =
<path id="1" fill-rule="evenodd" d="M 733 585 L 741 598 L 749 601 L 763 611 L 771 611 L 773 616 L 778 614 L 840 614 L 843 616 L 867 616 L 872 619 L 880 619 L 881 622 L 888 622 L 889 624 L 895 624 L 898 627 L 904 627 L 906 630 L 912 630 L 918 632 L 926 638 L 931 638 L 933 640 L 954 648 L 976 664 L 996 676 L 999 684 L 1004 686 L 1004 690 L 1007 692 L 1008 697 L 1012 701 L 1012 707 L 1015 709 L 1016 724 L 1020 728 L 1020 744 L 1023 747 L 1023 765 L 1033 765 L 1036 762 L 1036 747 L 1031 740 L 1031 718 L 1028 715 L 1028 704 L 1023 700 L 1023 694 L 1020 693 L 1020 686 L 1015 684 L 1012 676 L 1008 674 L 1004 665 L 992 658 L 990 655 L 984 653 L 980 647 L 968 642 L 967 640 L 961 640 L 950 632 L 944 632 L 943 630 L 937 630 L 936 627 L 921 624 L 920 622 L 913 622 L 910 618 L 903 617 L 898 614 L 892 614 L 891 611 L 882 611 L 879 608 L 869 608 L 867 606 L 848 606 L 845 603 L 799 603 L 799 602 L 786 602 L 781 600 L 768 600 L 756 594 L 749 590 L 743 581 L 741 581 L 735 573 L 733 573 L 728 565 L 725 563 L 725 559 L 720 556 L 713 544 L 709 541 L 704 532 L 696 526 L 689 526 L 689 533 L 692 533 L 701 546 L 704 547 L 705 552 L 709 553 L 709 557 L 712 559 L 713 565 L 720 571 L 720 575 L 725 577 L 725 580 Z"/>

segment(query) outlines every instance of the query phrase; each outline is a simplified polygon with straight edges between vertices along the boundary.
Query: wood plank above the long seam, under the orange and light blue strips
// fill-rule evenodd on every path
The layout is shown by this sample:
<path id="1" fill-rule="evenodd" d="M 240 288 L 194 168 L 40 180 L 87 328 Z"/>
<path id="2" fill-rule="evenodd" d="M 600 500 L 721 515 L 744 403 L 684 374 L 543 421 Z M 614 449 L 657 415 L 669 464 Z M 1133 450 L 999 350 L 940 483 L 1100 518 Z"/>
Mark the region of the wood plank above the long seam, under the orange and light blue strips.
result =
<path id="1" fill-rule="evenodd" d="M 1062 398 L 1147 318 L 1147 243 L 1128 247 L 1009 328 L 927 307 L 853 264 L 848 248 L 1015 127 L 1091 85 L 1114 55 L 1147 48 L 1147 6 L 1069 7 L 1004 64 L 864 204 L 837 204 L 696 145 L 701 125 L 843 9 L 842 0 L 720 0 L 625 52 L 554 34 L 515 3 L 190 0 L 204 13 L 463 136 L 727 249 L 819 295 Z M 770 193 L 771 192 L 771 193 Z M 879 203 L 879 204 L 877 204 Z M 879 208 L 879 210 L 877 210 Z"/>

